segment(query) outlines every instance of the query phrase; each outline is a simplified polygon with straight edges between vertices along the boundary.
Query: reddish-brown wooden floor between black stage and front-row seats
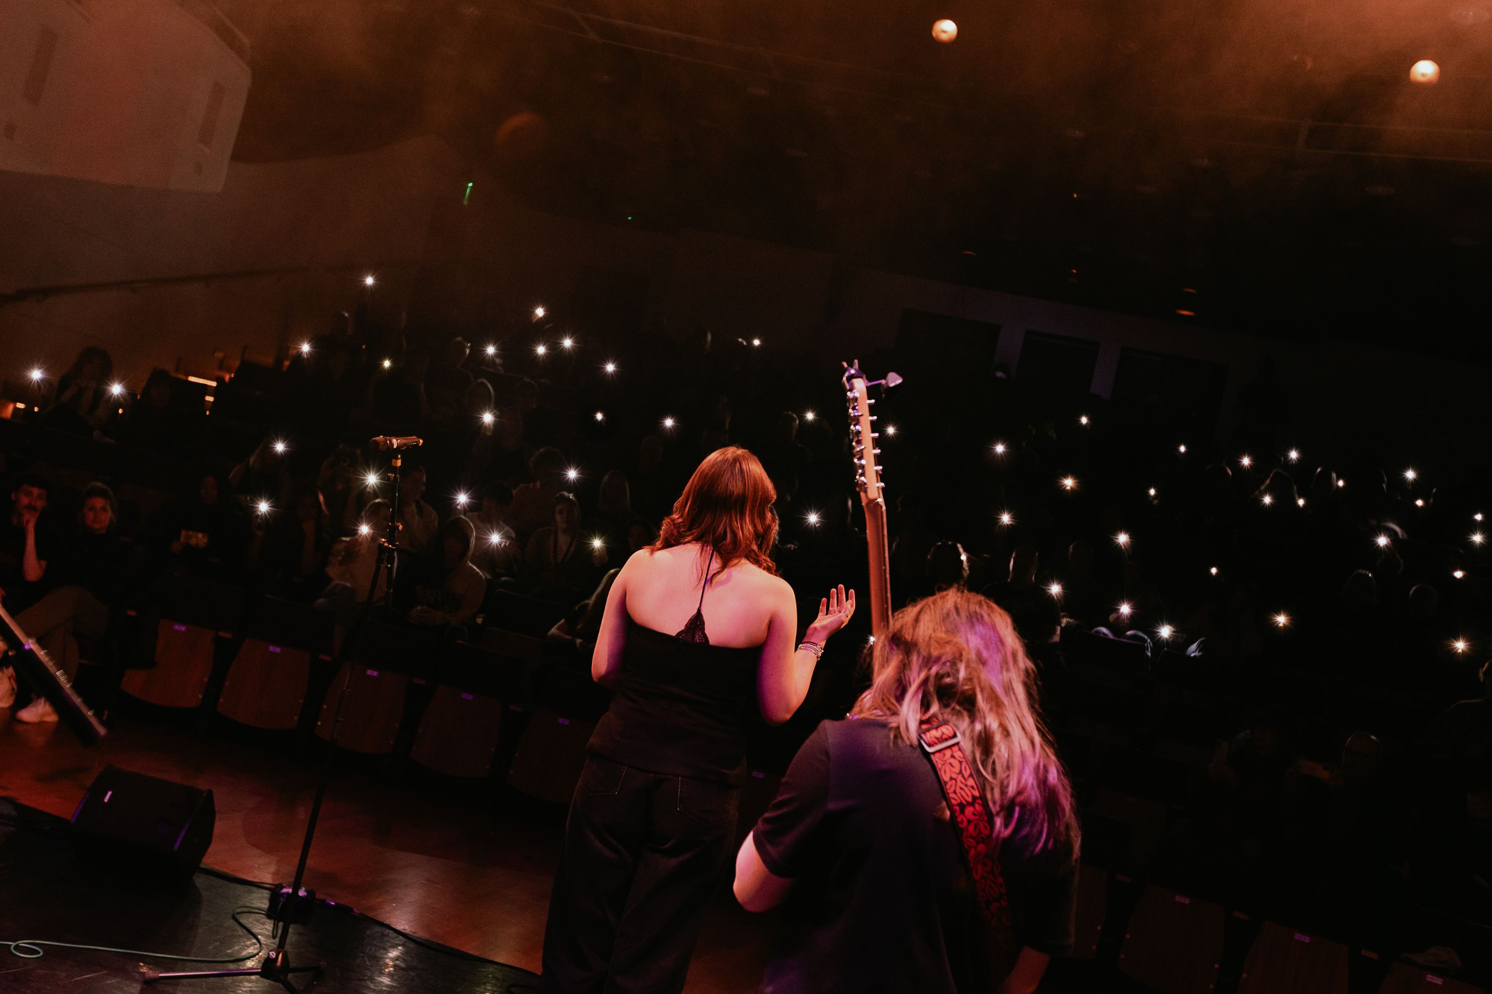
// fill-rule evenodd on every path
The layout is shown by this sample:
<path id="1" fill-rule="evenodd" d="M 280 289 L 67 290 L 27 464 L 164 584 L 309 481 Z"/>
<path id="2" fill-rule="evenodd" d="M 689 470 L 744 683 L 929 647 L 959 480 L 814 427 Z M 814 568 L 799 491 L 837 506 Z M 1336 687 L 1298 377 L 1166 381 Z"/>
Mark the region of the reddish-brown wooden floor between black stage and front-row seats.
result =
<path id="1" fill-rule="evenodd" d="M 90 750 L 61 726 L 16 724 L 10 714 L 0 711 L 0 796 L 67 818 L 107 763 L 209 787 L 218 824 L 204 863 L 254 881 L 294 875 L 313 760 L 127 717 Z M 333 773 L 306 885 L 418 936 L 537 970 L 564 811 L 360 759 Z M 685 991 L 755 991 L 773 924 L 722 887 Z"/>

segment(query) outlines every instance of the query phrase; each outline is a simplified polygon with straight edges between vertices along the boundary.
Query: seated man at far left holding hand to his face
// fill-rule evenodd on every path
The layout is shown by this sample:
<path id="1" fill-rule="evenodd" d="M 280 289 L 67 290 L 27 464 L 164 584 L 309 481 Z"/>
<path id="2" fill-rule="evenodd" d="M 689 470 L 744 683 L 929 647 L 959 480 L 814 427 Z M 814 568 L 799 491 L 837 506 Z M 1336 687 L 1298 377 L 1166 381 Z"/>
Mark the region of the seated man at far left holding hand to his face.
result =
<path id="1" fill-rule="evenodd" d="M 60 586 L 63 542 L 49 528 L 46 477 L 25 474 L 10 495 L 10 516 L 0 525 L 0 598 L 16 624 L 51 656 L 69 680 L 78 675 L 79 644 L 97 647 L 109 626 L 109 610 L 79 586 Z M 15 702 L 15 675 L 0 675 L 0 706 Z M 45 697 L 34 697 L 16 721 L 57 721 Z"/>

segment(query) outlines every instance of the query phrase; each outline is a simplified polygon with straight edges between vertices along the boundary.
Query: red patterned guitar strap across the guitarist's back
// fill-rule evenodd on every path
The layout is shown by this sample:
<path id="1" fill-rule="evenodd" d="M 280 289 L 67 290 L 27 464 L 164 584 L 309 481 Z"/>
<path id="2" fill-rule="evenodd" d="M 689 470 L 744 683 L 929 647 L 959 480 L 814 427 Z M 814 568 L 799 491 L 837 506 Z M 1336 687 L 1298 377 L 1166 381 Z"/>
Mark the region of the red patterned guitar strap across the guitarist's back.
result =
<path id="1" fill-rule="evenodd" d="M 985 914 L 985 924 L 989 925 L 991 960 L 1010 963 L 1016 951 L 1016 934 L 1010 919 L 1006 879 L 1000 872 L 1000 843 L 995 842 L 985 793 L 979 788 L 979 779 L 964 754 L 961 741 L 958 729 L 946 721 L 928 721 L 922 726 L 922 748 L 943 782 L 943 796 L 958 826 L 968 875 L 974 879 L 974 894 Z"/>

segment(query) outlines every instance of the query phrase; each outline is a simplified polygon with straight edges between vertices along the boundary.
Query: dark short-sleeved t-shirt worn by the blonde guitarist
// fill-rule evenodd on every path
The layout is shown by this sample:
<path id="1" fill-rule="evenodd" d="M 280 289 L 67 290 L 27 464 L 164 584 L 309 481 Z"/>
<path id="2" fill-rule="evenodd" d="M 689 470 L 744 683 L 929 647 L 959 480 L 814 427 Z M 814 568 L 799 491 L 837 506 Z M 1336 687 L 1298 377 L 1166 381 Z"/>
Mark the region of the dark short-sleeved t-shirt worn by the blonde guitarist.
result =
<path id="1" fill-rule="evenodd" d="M 794 879 L 762 994 L 988 994 L 985 924 L 932 765 L 883 721 L 825 721 L 756 823 L 756 852 Z M 1070 849 L 1001 854 L 1021 945 L 1073 948 Z"/>

